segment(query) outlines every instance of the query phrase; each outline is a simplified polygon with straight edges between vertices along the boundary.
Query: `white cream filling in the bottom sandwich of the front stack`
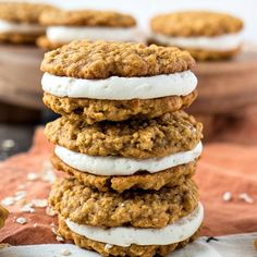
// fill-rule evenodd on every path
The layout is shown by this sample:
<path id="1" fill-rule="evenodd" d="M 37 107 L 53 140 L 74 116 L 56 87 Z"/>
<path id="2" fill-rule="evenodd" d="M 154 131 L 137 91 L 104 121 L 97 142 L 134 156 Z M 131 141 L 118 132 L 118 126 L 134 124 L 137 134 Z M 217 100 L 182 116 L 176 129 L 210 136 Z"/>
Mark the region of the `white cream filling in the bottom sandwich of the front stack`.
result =
<path id="1" fill-rule="evenodd" d="M 140 229 L 132 227 L 117 227 L 102 229 L 83 225 L 66 219 L 66 225 L 78 235 L 89 240 L 111 245 L 127 247 L 136 245 L 169 245 L 189 238 L 200 227 L 204 220 L 204 207 L 198 207 L 187 217 L 184 217 L 162 229 Z"/>

